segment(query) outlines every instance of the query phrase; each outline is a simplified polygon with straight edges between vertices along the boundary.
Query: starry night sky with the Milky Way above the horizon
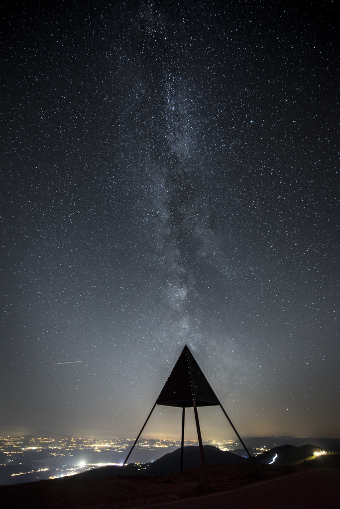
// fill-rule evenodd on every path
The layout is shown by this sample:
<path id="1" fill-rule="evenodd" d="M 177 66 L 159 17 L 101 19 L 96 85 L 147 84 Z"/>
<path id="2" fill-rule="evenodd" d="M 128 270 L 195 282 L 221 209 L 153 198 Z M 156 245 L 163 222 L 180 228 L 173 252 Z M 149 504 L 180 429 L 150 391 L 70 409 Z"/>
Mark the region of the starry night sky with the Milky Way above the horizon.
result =
<path id="1" fill-rule="evenodd" d="M 136 437 L 187 344 L 241 435 L 339 437 L 337 19 L 4 4 L 0 434 Z"/>

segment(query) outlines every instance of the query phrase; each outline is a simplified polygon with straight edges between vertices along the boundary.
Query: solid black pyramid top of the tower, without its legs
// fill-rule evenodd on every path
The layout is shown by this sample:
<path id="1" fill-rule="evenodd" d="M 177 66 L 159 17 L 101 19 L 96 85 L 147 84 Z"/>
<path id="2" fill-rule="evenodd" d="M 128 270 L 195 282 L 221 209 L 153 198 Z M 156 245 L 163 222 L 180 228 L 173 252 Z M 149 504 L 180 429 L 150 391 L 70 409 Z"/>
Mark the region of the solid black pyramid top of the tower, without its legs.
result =
<path id="1" fill-rule="evenodd" d="M 193 407 L 193 400 L 198 407 L 220 404 L 186 345 L 161 390 L 156 404 L 182 408 Z"/>

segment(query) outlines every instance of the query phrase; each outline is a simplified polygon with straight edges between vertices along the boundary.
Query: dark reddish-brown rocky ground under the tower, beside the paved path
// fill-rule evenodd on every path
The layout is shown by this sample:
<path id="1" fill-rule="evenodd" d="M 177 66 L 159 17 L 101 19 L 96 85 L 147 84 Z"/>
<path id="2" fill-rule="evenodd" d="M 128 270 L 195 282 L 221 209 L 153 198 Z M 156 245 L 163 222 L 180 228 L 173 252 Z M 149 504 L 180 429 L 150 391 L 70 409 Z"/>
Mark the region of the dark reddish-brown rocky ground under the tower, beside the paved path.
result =
<path id="1" fill-rule="evenodd" d="M 212 491 L 240 488 L 294 472 L 294 467 L 260 465 L 261 476 L 248 464 L 207 465 Z M 3 509 L 120 509 L 152 505 L 205 494 L 202 469 L 169 475 L 41 480 L 0 486 Z"/>

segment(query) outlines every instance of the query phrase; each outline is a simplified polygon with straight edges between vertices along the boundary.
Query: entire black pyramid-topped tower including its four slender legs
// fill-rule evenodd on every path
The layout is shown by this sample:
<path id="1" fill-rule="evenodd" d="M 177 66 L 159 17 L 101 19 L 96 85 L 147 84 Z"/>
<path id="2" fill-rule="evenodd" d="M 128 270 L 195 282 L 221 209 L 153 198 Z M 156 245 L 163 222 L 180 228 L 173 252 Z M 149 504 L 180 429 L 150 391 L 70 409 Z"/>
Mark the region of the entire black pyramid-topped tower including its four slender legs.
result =
<path id="1" fill-rule="evenodd" d="M 218 400 L 215 392 L 211 388 L 209 382 L 203 375 L 202 370 L 200 369 L 199 365 L 197 364 L 196 360 L 194 359 L 193 354 L 191 353 L 191 351 L 189 350 L 187 345 L 184 347 L 180 356 L 178 357 L 178 360 L 177 360 L 176 364 L 174 365 L 174 368 L 173 368 L 172 372 L 170 373 L 168 380 L 165 382 L 165 385 L 164 385 L 163 389 L 161 390 L 161 393 L 160 393 L 157 401 L 153 405 L 151 412 L 149 413 L 146 421 L 144 422 L 143 428 L 139 432 L 139 435 L 136 438 L 134 445 L 130 449 L 130 451 L 126 457 L 126 460 L 123 463 L 123 467 L 124 467 L 125 463 L 127 462 L 130 454 L 132 453 L 132 451 L 133 451 L 139 437 L 141 436 L 142 431 L 144 430 L 146 423 L 149 420 L 149 418 L 153 412 L 153 409 L 156 405 L 166 405 L 166 406 L 170 406 L 170 407 L 181 407 L 182 408 L 180 470 L 183 469 L 185 410 L 187 407 L 194 408 L 198 444 L 199 444 L 199 450 L 200 450 L 200 455 L 201 455 L 201 463 L 202 463 L 204 484 L 205 484 L 206 491 L 208 491 L 208 479 L 207 479 L 206 469 L 205 469 L 202 437 L 201 437 L 201 431 L 200 431 L 200 427 L 199 427 L 197 407 L 207 407 L 207 406 L 217 406 L 217 405 L 219 405 L 221 407 L 224 415 L 230 422 L 232 429 L 237 434 L 243 447 L 245 448 L 245 450 L 248 454 L 248 457 L 253 462 L 256 470 L 258 470 L 257 466 L 255 465 L 252 457 L 250 456 L 249 451 L 248 451 L 247 447 L 245 446 L 242 438 L 238 434 L 236 428 L 233 426 L 231 420 L 229 419 L 228 415 L 226 414 L 224 408 L 222 407 L 220 401 Z"/>

